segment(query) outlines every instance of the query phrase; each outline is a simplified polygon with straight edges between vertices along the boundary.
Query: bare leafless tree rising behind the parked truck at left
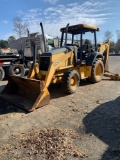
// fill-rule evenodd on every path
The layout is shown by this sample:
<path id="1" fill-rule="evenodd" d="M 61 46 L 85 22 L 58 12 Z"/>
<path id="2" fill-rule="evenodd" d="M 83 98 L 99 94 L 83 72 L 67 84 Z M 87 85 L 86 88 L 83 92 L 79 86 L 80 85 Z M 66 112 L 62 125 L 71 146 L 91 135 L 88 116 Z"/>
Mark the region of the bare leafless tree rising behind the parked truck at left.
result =
<path id="1" fill-rule="evenodd" d="M 23 21 L 19 17 L 15 17 L 13 20 L 13 25 L 14 25 L 13 30 L 17 33 L 19 38 L 21 38 L 22 35 L 26 33 L 26 29 L 28 28 L 29 23 Z"/>

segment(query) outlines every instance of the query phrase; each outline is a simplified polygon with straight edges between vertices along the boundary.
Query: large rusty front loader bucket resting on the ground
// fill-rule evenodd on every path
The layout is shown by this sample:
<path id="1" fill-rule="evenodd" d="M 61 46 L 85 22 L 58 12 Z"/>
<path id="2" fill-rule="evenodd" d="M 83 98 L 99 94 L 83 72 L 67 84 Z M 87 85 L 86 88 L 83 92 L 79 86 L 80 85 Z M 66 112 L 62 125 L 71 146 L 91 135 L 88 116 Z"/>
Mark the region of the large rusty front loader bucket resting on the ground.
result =
<path id="1" fill-rule="evenodd" d="M 11 76 L 0 97 L 27 111 L 33 111 L 50 102 L 49 91 L 44 86 L 44 81 Z"/>

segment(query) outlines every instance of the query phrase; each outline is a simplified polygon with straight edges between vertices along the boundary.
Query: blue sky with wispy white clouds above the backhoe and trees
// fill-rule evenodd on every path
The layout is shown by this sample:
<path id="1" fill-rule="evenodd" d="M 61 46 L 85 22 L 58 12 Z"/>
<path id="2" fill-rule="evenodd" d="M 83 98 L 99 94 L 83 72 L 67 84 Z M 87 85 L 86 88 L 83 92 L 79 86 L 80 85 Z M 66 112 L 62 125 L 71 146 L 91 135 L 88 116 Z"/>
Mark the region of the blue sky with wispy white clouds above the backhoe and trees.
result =
<path id="1" fill-rule="evenodd" d="M 40 32 L 43 23 L 45 34 L 60 37 L 60 28 L 68 23 L 91 24 L 100 28 L 98 42 L 104 41 L 105 31 L 113 34 L 120 30 L 120 0 L 0 0 L 0 39 L 16 36 L 13 19 L 21 18 L 29 23 L 29 31 Z M 25 36 L 25 35 L 24 35 Z"/>

